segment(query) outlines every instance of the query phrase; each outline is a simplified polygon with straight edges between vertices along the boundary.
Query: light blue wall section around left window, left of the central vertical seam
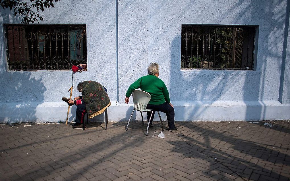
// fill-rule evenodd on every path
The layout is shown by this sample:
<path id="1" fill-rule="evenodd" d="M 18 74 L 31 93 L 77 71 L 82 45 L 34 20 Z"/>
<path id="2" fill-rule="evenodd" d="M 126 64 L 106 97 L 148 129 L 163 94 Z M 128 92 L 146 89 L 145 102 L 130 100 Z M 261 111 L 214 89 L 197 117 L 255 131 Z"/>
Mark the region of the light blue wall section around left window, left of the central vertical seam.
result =
<path id="1" fill-rule="evenodd" d="M 86 23 L 88 71 L 74 75 L 76 85 L 83 80 L 95 80 L 108 88 L 112 100 L 116 100 L 116 9 L 115 1 L 95 1 L 84 6 L 83 1 L 59 1 L 55 8 L 44 13 L 41 23 Z M 10 11 L 1 9 L 1 23 L 19 23 Z M 61 97 L 69 96 L 72 84 L 69 70 L 9 71 L 5 70 L 3 30 L 0 32 L 0 102 L 16 103 L 21 107 L 59 102 Z M 110 42 L 110 43 L 108 43 Z M 57 106 L 57 105 L 56 105 Z M 12 114 L 19 114 L 18 108 Z M 36 109 L 29 111 L 25 118 L 36 119 Z M 57 112 L 48 113 L 57 114 Z M 6 115 L 7 116 L 7 115 Z M 48 116 L 49 117 L 49 116 Z M 9 118 L 9 115 L 8 115 Z M 49 119 L 49 118 L 48 118 Z"/>

